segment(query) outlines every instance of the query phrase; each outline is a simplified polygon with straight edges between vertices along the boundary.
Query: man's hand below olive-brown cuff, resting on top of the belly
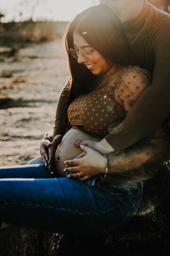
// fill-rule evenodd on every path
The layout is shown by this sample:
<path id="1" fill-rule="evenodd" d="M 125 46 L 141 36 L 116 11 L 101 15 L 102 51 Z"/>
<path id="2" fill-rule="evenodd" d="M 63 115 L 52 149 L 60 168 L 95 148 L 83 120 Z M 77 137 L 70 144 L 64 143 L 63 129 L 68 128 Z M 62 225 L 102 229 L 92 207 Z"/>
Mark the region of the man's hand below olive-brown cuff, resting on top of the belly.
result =
<path id="1" fill-rule="evenodd" d="M 114 152 L 114 149 L 112 148 L 112 146 L 110 146 L 110 144 L 105 139 L 102 139 L 99 142 L 93 141 L 90 139 L 74 140 L 73 143 L 75 146 L 84 145 L 84 146 L 92 147 L 93 149 L 97 150 L 103 155 L 108 155 Z"/>

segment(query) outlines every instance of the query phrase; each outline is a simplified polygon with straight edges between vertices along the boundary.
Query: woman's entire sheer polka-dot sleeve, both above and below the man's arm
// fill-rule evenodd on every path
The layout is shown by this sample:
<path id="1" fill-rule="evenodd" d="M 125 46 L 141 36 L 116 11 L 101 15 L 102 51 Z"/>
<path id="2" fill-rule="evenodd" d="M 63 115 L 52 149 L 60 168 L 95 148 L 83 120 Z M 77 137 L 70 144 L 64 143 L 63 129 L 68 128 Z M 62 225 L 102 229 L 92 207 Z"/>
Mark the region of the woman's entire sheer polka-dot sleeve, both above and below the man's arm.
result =
<path id="1" fill-rule="evenodd" d="M 126 115 L 150 82 L 150 74 L 140 68 L 129 68 L 119 79 L 114 89 L 115 99 Z M 168 139 L 162 126 L 126 150 L 108 155 L 109 171 L 105 180 L 116 184 L 135 183 L 153 177 L 167 147 Z"/>

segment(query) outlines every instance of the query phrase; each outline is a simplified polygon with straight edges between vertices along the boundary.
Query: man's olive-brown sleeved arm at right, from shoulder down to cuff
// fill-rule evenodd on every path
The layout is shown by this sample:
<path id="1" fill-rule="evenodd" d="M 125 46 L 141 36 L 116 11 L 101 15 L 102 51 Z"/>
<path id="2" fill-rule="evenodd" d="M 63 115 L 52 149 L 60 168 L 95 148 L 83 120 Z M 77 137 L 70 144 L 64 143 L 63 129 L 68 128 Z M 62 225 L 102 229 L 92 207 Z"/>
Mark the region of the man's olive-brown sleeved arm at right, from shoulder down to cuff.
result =
<path id="1" fill-rule="evenodd" d="M 170 25 L 161 28 L 153 47 L 155 66 L 151 86 L 136 101 L 126 119 L 105 137 L 115 151 L 151 134 L 170 115 Z"/>

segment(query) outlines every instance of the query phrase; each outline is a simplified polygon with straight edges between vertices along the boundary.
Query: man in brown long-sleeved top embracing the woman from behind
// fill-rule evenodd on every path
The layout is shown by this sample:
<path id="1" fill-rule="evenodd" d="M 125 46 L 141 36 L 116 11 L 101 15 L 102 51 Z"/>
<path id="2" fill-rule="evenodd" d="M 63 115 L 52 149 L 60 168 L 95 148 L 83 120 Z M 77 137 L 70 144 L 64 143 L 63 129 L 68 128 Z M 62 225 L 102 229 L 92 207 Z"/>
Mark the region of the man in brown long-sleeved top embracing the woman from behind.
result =
<path id="1" fill-rule="evenodd" d="M 117 12 L 129 44 L 140 64 L 142 63 L 142 67 L 153 74 L 151 86 L 136 101 L 127 118 L 101 141 L 101 146 L 107 146 L 108 152 L 114 152 L 135 144 L 168 119 L 170 114 L 170 15 L 154 8 L 145 0 L 99 0 L 99 2 L 107 4 Z M 60 100 L 59 98 L 58 109 Z M 49 165 L 49 169 L 53 161 L 52 155 L 61 139 L 58 135 L 62 134 L 61 123 L 65 130 L 66 121 L 61 112 L 58 116 L 58 124 L 54 126 L 57 135 L 52 142 L 44 140 L 41 143 L 42 161 Z M 50 139 L 49 134 L 44 138 Z"/>

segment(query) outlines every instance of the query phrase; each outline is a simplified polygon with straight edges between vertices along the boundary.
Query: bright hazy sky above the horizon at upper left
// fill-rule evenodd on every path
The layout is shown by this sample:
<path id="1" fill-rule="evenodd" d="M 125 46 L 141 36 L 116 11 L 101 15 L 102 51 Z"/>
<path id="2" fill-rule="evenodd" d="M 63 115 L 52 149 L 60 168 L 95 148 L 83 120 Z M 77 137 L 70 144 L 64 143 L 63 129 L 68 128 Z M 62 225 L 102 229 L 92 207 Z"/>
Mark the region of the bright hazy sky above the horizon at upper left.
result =
<path id="1" fill-rule="evenodd" d="M 82 10 L 98 4 L 98 0 L 6 0 L 0 2 L 2 22 L 37 20 L 71 20 Z"/>

